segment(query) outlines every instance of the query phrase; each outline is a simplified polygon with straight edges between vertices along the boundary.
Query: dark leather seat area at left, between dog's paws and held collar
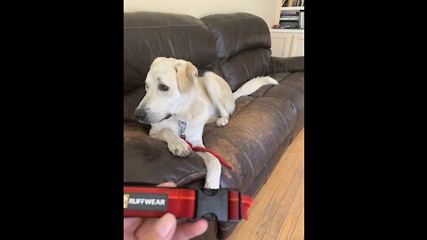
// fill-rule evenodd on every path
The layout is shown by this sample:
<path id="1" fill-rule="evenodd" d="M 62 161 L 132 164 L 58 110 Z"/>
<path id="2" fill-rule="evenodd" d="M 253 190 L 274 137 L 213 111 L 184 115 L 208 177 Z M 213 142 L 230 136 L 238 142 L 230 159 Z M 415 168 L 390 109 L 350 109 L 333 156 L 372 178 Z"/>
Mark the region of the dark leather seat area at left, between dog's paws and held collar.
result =
<path id="1" fill-rule="evenodd" d="M 149 137 L 140 124 L 124 123 L 124 181 L 159 184 L 173 181 L 179 186 L 205 180 L 205 164 L 195 153 L 173 156 L 165 142 Z"/>

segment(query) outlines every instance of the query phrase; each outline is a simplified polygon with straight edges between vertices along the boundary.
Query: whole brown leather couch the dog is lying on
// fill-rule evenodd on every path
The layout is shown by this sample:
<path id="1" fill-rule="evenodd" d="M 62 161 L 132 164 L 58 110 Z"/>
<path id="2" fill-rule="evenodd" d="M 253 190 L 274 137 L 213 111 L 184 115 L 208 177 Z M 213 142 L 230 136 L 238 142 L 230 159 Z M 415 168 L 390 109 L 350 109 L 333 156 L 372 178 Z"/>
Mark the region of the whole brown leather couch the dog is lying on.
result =
<path id="1" fill-rule="evenodd" d="M 271 57 L 270 31 L 248 13 L 197 19 L 159 12 L 125 12 L 124 28 L 125 182 L 202 187 L 205 165 L 194 153 L 173 156 L 165 142 L 149 138 L 149 126 L 133 111 L 145 94 L 144 80 L 158 56 L 191 61 L 203 75 L 212 70 L 233 91 L 254 76 L 270 75 L 278 85 L 263 86 L 237 100 L 230 123 L 205 126 L 206 148 L 236 167 L 222 167 L 221 188 L 255 196 L 304 124 L 304 59 Z M 283 172 L 286 174 L 286 172 Z M 225 239 L 236 224 L 210 221 L 197 239 Z"/>

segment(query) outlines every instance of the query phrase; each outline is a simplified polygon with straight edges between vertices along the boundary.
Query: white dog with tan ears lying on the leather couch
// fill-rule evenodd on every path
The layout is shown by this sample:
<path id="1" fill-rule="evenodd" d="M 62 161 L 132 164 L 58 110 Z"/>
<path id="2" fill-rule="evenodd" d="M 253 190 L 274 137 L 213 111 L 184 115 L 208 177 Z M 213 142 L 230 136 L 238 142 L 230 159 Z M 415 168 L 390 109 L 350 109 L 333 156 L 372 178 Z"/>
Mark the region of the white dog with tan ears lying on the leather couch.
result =
<path id="1" fill-rule="evenodd" d="M 255 77 L 231 92 L 229 84 L 213 72 L 198 77 L 189 61 L 159 57 L 153 61 L 145 80 L 146 95 L 135 109 L 141 123 L 151 124 L 149 136 L 163 140 L 174 156 L 189 156 L 193 147 L 205 148 L 202 140 L 206 123 L 229 123 L 235 100 L 262 85 L 278 84 L 270 76 Z M 186 127 L 182 127 L 186 125 Z M 210 153 L 196 152 L 205 162 L 205 188 L 220 188 L 221 163 Z"/>

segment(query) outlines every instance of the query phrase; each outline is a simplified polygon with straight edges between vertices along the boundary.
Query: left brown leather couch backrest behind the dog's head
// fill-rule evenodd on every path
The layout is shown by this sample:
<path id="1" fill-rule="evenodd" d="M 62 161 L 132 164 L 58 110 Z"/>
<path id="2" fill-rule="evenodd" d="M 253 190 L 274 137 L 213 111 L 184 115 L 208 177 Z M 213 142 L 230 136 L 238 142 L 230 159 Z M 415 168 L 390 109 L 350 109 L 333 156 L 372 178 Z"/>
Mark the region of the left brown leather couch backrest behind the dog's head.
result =
<path id="1" fill-rule="evenodd" d="M 145 94 L 144 82 L 157 57 L 191 61 L 197 68 L 216 64 L 214 41 L 205 24 L 192 16 L 161 12 L 125 12 L 125 118 Z"/>

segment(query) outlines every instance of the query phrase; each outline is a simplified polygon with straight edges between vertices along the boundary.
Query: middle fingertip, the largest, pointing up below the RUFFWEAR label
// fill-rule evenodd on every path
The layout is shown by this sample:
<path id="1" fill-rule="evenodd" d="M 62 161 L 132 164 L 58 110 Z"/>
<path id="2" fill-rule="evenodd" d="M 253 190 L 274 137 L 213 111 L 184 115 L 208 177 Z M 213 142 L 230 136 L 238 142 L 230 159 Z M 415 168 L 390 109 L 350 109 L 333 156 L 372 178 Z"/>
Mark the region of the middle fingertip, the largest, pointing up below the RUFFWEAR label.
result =
<path id="1" fill-rule="evenodd" d="M 175 216 L 165 213 L 159 219 L 149 219 L 144 221 L 135 232 L 139 240 L 170 240 L 176 228 Z"/>

